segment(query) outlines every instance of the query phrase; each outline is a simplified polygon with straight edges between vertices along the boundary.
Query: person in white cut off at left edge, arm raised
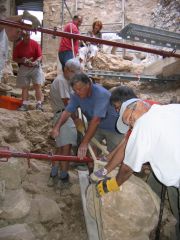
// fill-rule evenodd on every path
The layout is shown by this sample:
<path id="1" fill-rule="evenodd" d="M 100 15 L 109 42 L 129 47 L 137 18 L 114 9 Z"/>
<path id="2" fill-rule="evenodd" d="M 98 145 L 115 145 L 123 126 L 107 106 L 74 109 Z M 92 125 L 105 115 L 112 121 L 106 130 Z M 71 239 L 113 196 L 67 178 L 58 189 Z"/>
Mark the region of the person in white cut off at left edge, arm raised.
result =
<path id="1" fill-rule="evenodd" d="M 6 20 L 14 22 L 29 20 L 32 22 L 32 28 L 37 28 L 41 25 L 39 20 L 27 11 L 24 11 L 22 15 L 8 17 Z M 8 40 L 14 42 L 19 39 L 20 34 L 21 30 L 19 28 L 0 25 L 0 90 L 2 91 L 11 89 L 2 82 L 3 68 L 8 58 Z"/>

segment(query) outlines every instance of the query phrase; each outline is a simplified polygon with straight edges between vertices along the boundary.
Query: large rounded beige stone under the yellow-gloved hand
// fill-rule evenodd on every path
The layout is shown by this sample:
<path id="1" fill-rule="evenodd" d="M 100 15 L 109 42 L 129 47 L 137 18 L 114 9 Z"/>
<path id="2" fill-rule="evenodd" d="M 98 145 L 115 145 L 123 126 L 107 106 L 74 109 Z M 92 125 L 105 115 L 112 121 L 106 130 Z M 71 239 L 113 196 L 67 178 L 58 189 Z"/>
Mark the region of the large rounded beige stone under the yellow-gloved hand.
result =
<path id="1" fill-rule="evenodd" d="M 100 201 L 104 239 L 149 239 L 158 222 L 159 199 L 145 182 L 132 176 L 121 191 L 108 193 Z"/>

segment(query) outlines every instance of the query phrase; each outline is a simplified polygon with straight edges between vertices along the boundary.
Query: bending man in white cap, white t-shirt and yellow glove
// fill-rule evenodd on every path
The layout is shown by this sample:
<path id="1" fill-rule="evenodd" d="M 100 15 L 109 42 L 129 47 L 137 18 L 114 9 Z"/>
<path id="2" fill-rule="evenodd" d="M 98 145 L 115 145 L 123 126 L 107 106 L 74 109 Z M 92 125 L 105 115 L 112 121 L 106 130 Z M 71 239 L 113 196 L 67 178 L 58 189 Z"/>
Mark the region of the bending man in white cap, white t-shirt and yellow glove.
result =
<path id="1" fill-rule="evenodd" d="M 133 127 L 125 150 L 124 162 L 116 178 L 101 181 L 97 190 L 102 196 L 118 191 L 133 173 L 149 162 L 154 174 L 166 186 L 180 187 L 180 105 L 153 105 L 140 99 L 122 104 L 119 130 Z M 168 128 L 167 128 L 168 126 Z M 172 144 L 173 139 L 173 144 Z"/>

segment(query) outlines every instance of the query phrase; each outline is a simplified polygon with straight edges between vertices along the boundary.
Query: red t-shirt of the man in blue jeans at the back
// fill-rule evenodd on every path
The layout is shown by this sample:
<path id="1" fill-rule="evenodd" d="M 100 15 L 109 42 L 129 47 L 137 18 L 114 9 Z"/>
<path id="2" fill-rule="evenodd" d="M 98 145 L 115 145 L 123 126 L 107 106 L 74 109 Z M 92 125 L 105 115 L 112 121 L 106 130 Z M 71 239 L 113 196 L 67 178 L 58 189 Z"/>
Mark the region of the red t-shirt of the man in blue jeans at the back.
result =
<path id="1" fill-rule="evenodd" d="M 73 22 L 70 22 L 65 25 L 64 32 L 69 32 L 69 33 L 72 32 L 74 34 L 80 33 L 78 30 L 78 27 Z M 74 43 L 74 54 L 76 56 L 78 53 L 78 49 L 79 49 L 79 40 L 73 39 L 73 43 Z M 63 38 L 61 38 L 61 41 L 60 41 L 59 52 L 64 52 L 64 51 L 68 51 L 68 50 L 72 50 L 71 39 L 63 37 Z"/>

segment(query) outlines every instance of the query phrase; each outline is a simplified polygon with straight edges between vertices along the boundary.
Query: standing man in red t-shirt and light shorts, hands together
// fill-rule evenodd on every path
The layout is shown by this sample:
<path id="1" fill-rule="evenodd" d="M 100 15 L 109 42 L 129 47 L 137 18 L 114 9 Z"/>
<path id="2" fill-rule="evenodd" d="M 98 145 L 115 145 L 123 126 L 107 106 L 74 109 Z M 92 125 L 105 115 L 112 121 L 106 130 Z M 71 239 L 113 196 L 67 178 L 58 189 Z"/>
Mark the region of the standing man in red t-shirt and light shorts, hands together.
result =
<path id="1" fill-rule="evenodd" d="M 20 66 L 17 75 L 17 87 L 22 89 L 23 103 L 19 110 L 28 110 L 28 91 L 32 81 L 37 100 L 36 109 L 43 111 L 41 85 L 44 82 L 44 75 L 40 64 L 42 60 L 41 47 L 30 38 L 30 32 L 28 31 L 23 31 L 22 38 L 13 51 L 13 60 Z"/>

